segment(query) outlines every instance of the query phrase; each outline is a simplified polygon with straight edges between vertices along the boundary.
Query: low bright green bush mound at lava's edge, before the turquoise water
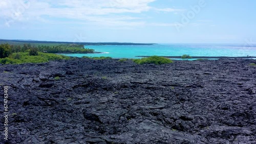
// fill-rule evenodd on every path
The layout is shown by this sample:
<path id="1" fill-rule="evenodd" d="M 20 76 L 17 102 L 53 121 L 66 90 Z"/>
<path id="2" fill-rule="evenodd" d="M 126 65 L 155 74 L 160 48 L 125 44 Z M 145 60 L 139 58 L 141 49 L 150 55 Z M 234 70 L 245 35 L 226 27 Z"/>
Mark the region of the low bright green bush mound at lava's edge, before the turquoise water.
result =
<path id="1" fill-rule="evenodd" d="M 134 59 L 133 60 L 137 64 L 144 64 L 144 63 L 154 63 L 154 64 L 165 64 L 165 63 L 173 63 L 172 60 L 164 57 L 159 56 L 152 56 L 148 58 L 142 58 L 142 59 Z"/>

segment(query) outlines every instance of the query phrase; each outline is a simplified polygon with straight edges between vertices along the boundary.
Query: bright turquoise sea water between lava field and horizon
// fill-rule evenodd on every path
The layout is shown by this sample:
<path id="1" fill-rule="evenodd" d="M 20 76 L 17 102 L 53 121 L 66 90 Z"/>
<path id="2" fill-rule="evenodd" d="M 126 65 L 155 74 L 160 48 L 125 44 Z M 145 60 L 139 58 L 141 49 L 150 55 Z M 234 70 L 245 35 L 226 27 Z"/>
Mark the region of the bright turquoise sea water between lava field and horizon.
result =
<path id="1" fill-rule="evenodd" d="M 87 45 L 103 54 L 63 54 L 72 57 L 138 58 L 136 56 L 256 56 L 256 45 L 236 44 L 156 44 L 156 45 Z"/>

